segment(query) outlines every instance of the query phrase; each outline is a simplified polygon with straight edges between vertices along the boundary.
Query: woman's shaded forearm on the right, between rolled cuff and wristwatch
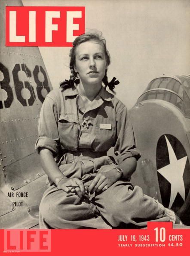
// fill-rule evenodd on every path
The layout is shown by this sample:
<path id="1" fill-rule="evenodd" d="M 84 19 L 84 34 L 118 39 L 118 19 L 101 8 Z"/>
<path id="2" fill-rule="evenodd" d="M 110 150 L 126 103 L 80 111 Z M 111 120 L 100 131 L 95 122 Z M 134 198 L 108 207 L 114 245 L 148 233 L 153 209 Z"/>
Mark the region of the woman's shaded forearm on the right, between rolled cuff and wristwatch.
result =
<path id="1" fill-rule="evenodd" d="M 129 178 L 135 172 L 137 167 L 137 160 L 135 157 L 129 157 L 118 165 L 123 170 L 123 178 Z"/>

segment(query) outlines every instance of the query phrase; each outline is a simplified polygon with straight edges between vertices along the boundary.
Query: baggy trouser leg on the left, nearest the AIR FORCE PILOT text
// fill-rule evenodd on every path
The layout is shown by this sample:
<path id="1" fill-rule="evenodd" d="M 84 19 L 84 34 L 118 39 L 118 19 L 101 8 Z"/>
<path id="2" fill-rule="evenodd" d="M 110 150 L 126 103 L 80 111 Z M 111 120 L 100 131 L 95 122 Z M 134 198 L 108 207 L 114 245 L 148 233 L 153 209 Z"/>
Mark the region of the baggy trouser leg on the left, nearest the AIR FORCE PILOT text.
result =
<path id="1" fill-rule="evenodd" d="M 40 228 L 110 228 L 96 213 L 98 209 L 93 203 L 52 186 L 40 203 Z"/>

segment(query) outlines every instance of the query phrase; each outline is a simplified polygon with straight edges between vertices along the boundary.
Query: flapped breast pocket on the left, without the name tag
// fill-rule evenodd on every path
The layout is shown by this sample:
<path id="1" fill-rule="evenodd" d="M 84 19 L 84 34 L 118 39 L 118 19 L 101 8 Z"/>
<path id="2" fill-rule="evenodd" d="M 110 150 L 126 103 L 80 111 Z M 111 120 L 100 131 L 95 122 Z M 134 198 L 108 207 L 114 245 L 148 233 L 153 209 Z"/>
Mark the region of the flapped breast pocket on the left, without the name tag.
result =
<path id="1" fill-rule="evenodd" d="M 78 149 L 78 119 L 75 115 L 61 114 L 58 119 L 58 133 L 62 149 Z"/>

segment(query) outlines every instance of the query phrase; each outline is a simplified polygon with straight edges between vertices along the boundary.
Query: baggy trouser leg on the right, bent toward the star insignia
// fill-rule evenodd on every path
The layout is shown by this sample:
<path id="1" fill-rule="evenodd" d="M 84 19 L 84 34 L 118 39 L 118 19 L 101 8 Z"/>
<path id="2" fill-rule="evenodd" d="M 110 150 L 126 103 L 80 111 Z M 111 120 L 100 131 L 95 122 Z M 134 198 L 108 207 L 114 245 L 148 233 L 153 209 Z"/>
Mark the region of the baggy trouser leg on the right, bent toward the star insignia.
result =
<path id="1" fill-rule="evenodd" d="M 166 216 L 161 204 L 144 195 L 141 187 L 133 188 L 129 182 L 117 181 L 101 194 L 96 194 L 94 200 L 101 215 L 113 227 L 123 222 L 144 225 L 144 222 Z"/>

